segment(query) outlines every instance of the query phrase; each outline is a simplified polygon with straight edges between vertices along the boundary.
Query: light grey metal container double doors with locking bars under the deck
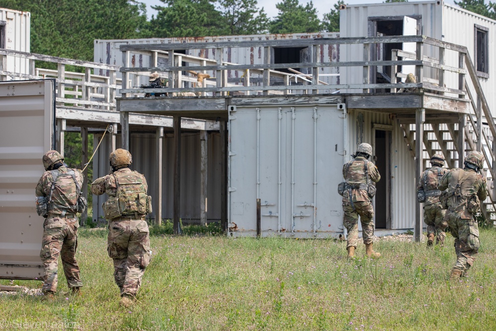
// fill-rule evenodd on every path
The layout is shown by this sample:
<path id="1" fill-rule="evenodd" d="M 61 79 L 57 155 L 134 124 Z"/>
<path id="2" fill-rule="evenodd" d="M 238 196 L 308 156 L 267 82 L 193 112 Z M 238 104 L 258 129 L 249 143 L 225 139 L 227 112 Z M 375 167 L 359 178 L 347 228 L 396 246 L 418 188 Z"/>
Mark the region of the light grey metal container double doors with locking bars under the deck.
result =
<path id="1" fill-rule="evenodd" d="M 230 106 L 229 232 L 336 237 L 343 214 L 343 110 L 337 105 Z"/>

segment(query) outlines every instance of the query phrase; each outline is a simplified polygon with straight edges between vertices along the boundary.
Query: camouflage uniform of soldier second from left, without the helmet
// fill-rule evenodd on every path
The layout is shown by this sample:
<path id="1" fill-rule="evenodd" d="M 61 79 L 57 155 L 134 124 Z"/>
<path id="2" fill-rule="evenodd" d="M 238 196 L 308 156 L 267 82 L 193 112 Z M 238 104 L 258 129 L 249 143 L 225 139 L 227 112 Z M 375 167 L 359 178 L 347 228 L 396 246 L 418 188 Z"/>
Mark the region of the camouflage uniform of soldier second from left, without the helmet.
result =
<path id="1" fill-rule="evenodd" d="M 127 167 L 91 184 L 93 194 L 107 193 L 109 198 L 119 198 L 128 206 L 137 199 L 138 194 L 146 195 L 147 190 L 145 177 Z M 114 278 L 121 289 L 121 296 L 136 296 L 145 267 L 150 263 L 150 237 L 145 215 L 134 211 L 109 219 L 107 251 L 114 260 Z"/>

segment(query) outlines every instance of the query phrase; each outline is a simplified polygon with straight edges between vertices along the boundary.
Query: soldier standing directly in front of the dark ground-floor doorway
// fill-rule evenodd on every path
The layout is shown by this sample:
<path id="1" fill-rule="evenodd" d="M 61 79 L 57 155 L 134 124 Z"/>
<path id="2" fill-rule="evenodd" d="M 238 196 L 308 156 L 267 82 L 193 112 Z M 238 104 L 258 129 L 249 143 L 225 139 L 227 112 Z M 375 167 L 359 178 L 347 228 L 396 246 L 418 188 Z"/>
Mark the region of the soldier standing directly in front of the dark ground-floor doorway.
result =
<path id="1" fill-rule="evenodd" d="M 372 248 L 374 212 L 371 199 L 375 194 L 375 183 L 380 180 L 380 175 L 375 165 L 368 161 L 371 155 L 372 146 L 368 143 L 361 143 L 356 153 L 352 155 L 354 159 L 343 166 L 343 177 L 346 183 L 343 192 L 343 223 L 348 231 L 346 248 L 348 258 L 355 256 L 357 248 L 358 216 L 362 222 L 367 256 L 372 258 L 380 256 Z"/>

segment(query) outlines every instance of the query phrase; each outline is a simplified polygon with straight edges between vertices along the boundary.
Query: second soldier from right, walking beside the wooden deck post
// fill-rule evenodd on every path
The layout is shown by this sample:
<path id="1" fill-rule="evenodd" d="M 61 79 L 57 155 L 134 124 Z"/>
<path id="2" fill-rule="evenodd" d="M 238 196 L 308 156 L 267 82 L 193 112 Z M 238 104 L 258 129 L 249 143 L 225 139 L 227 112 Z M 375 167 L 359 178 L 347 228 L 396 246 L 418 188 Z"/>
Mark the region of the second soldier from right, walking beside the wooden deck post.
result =
<path id="1" fill-rule="evenodd" d="M 434 154 L 431 157 L 430 169 L 424 171 L 420 176 L 417 184 L 417 197 L 419 202 L 424 202 L 424 222 L 427 224 L 427 246 L 436 245 L 444 246 L 444 238 L 446 233 L 444 229 L 448 223 L 444 220 L 444 209 L 441 208 L 439 203 L 439 180 L 448 170 L 442 168 L 444 165 L 444 158 L 440 154 Z"/>

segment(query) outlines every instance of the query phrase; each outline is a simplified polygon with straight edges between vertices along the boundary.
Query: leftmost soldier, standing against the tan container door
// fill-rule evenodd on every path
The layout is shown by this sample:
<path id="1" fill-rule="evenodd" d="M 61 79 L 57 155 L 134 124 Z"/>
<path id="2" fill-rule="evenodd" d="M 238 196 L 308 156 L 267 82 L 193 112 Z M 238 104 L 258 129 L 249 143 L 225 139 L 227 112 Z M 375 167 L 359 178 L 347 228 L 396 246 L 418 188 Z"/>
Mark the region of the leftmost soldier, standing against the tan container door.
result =
<path id="1" fill-rule="evenodd" d="M 43 165 L 47 171 L 36 186 L 36 196 L 47 197 L 48 200 L 48 215 L 43 223 L 43 244 L 40 253 L 44 266 L 42 290 L 48 295 L 57 290 L 59 255 L 67 286 L 73 293 L 77 293 L 83 286 L 75 258 L 79 227 L 76 217 L 77 200 L 83 184 L 83 174 L 79 169 L 67 168 L 63 160 L 56 150 L 50 150 L 43 155 Z"/>

